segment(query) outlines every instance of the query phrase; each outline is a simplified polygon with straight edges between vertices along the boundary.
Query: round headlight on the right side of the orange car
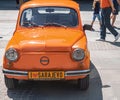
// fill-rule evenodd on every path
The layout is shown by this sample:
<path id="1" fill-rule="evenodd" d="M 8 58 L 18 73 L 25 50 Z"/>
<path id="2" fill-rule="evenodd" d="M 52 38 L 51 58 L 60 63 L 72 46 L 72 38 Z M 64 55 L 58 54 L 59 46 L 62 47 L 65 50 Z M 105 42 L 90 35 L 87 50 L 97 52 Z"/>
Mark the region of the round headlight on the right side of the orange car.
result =
<path id="1" fill-rule="evenodd" d="M 72 53 L 72 58 L 76 61 L 83 60 L 85 57 L 85 52 L 83 49 L 77 48 Z"/>

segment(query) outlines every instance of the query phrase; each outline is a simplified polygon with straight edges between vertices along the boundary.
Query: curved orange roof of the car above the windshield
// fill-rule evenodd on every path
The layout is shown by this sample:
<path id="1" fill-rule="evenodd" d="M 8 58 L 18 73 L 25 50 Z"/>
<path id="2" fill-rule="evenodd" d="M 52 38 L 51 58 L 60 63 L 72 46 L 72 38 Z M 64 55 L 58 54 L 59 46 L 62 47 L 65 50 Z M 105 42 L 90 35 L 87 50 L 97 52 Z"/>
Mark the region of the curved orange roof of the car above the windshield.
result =
<path id="1" fill-rule="evenodd" d="M 21 9 L 38 6 L 61 6 L 79 9 L 79 5 L 73 0 L 30 0 L 24 3 Z"/>

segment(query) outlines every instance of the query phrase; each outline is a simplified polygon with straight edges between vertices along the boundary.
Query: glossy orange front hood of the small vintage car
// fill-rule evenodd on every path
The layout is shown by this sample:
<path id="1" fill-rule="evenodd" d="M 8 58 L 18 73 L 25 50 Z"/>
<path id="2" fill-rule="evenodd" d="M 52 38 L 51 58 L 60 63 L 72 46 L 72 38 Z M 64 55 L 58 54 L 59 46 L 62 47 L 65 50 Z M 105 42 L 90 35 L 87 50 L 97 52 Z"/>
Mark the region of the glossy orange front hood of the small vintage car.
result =
<path id="1" fill-rule="evenodd" d="M 12 40 L 22 51 L 70 51 L 83 35 L 69 28 L 33 28 L 16 31 Z"/>

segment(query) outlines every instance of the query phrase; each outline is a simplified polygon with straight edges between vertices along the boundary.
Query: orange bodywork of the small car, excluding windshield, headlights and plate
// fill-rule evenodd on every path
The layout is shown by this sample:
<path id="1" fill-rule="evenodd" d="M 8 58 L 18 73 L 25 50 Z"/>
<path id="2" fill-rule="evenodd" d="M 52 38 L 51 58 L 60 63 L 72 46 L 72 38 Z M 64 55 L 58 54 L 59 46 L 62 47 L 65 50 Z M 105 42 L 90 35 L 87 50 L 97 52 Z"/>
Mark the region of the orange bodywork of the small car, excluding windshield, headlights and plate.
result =
<path id="1" fill-rule="evenodd" d="M 22 12 L 34 7 L 68 7 L 77 12 L 76 27 L 23 27 L 20 25 Z M 84 78 L 90 72 L 90 53 L 87 38 L 82 27 L 79 5 L 71 0 L 31 0 L 22 5 L 13 37 L 5 49 L 14 48 L 18 52 L 16 61 L 4 56 L 3 73 L 8 78 L 28 80 L 29 71 L 63 71 L 65 80 Z M 81 48 L 84 59 L 75 61 L 72 53 Z M 25 75 L 22 75 L 22 74 Z M 27 74 L 26 74 L 27 73 Z"/>

